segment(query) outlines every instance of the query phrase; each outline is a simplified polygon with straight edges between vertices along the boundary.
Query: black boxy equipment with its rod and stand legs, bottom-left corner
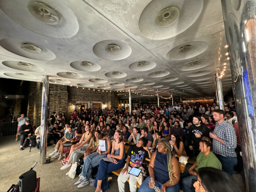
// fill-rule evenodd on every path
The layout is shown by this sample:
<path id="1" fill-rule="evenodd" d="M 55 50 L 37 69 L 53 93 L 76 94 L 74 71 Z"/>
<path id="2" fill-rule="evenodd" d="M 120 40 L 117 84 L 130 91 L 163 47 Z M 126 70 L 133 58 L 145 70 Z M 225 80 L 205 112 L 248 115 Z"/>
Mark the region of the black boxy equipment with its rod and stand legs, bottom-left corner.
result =
<path id="1" fill-rule="evenodd" d="M 7 192 L 32 192 L 37 188 L 37 172 L 33 168 L 37 162 L 30 168 L 29 171 L 19 176 L 19 181 L 16 185 L 12 185 Z"/>

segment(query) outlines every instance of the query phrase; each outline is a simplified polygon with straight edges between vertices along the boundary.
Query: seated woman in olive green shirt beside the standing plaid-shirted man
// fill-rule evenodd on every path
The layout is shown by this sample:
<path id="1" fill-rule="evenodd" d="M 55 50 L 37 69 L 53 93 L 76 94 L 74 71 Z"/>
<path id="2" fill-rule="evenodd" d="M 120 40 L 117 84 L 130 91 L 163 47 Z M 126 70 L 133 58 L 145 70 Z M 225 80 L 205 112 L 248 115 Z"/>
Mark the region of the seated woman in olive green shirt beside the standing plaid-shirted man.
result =
<path id="1" fill-rule="evenodd" d="M 197 156 L 196 162 L 190 167 L 186 167 L 181 173 L 181 190 L 183 192 L 192 192 L 192 179 L 197 179 L 197 171 L 202 167 L 213 167 L 222 170 L 222 165 L 219 159 L 213 154 L 213 146 L 210 138 L 203 136 L 199 142 L 200 153 Z"/>

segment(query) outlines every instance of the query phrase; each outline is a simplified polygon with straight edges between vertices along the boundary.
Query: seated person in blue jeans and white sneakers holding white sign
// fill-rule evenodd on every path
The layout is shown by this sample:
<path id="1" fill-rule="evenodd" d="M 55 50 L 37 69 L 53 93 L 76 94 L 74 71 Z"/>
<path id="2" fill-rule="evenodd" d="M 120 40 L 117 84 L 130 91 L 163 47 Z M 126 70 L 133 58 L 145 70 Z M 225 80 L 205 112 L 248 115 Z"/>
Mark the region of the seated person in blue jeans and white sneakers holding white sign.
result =
<path id="1" fill-rule="evenodd" d="M 99 134 L 99 140 L 104 140 L 106 144 L 106 150 L 101 151 L 101 149 L 97 149 L 97 152 L 92 153 L 91 155 L 87 155 L 84 161 L 83 170 L 81 176 L 75 185 L 78 185 L 78 188 L 85 187 L 89 183 L 89 179 L 91 176 L 92 167 L 95 167 L 100 164 L 100 161 L 103 158 L 107 157 L 107 154 L 111 151 L 111 141 L 105 136 L 103 133 Z"/>

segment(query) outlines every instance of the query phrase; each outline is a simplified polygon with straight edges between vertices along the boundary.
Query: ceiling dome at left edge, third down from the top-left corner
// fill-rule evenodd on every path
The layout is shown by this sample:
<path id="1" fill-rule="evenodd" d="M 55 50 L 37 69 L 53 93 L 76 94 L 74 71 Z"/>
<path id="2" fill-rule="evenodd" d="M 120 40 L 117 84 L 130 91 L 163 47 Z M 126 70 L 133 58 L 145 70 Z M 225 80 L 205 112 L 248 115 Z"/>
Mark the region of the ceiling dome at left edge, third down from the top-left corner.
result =
<path id="1" fill-rule="evenodd" d="M 27 62 L 20 62 L 20 61 L 3 61 L 3 65 L 6 67 L 10 67 L 12 69 L 17 69 L 21 71 L 30 71 L 30 72 L 43 72 L 44 69 L 39 67 L 35 64 L 30 64 Z"/>

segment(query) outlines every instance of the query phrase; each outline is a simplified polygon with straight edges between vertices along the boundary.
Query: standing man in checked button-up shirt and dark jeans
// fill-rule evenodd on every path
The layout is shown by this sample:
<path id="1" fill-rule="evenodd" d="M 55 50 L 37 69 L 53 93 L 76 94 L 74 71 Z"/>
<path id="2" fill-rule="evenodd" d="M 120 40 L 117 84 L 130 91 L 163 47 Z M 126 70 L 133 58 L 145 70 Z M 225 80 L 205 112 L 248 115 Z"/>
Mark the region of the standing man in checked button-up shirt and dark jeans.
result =
<path id="1" fill-rule="evenodd" d="M 234 166 L 237 164 L 236 135 L 235 128 L 225 122 L 224 117 L 223 110 L 213 110 L 213 118 L 218 124 L 216 123 L 214 133 L 210 132 L 210 138 L 213 138 L 213 153 L 221 162 L 223 171 L 232 176 Z"/>

